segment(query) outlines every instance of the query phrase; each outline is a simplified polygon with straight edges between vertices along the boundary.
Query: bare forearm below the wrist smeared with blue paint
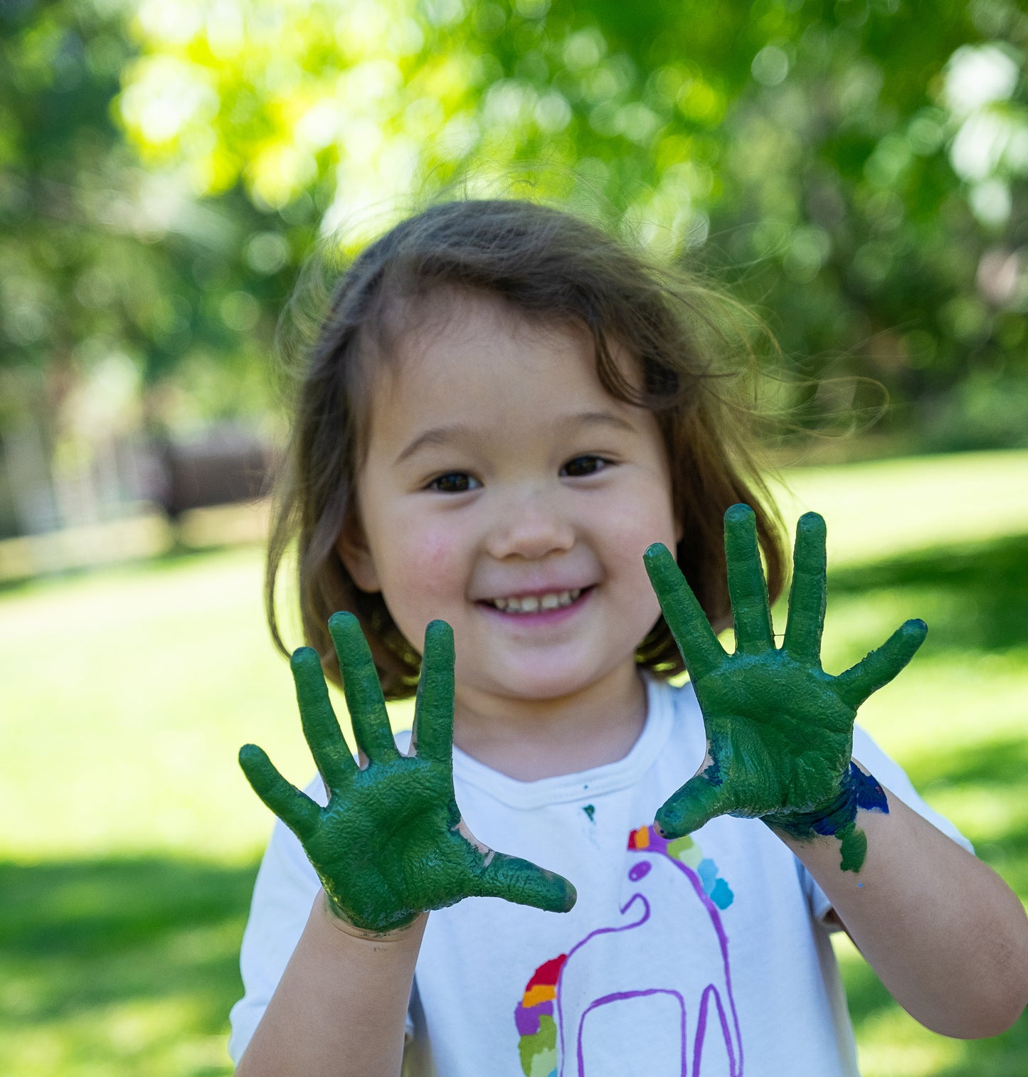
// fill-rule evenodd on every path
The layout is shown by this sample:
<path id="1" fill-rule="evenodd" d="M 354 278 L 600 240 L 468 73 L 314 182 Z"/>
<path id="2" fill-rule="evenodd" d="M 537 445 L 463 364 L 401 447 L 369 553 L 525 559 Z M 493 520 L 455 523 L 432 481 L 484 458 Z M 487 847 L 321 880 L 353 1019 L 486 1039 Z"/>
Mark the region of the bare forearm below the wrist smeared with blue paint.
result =
<path id="1" fill-rule="evenodd" d="M 986 864 L 886 791 L 888 814 L 861 811 L 860 871 L 838 842 L 783 838 L 820 883 L 893 998 L 947 1036 L 992 1036 L 1028 1003 L 1028 919 Z"/>

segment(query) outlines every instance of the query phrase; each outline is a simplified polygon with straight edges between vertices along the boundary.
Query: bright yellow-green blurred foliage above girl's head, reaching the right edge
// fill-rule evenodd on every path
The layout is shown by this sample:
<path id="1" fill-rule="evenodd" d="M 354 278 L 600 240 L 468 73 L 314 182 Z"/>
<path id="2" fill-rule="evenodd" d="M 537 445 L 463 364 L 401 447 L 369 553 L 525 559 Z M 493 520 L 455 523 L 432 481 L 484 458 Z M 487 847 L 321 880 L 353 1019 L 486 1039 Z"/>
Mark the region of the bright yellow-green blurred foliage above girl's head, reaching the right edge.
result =
<path id="1" fill-rule="evenodd" d="M 537 193 L 704 247 L 809 376 L 804 421 L 884 386 L 929 444 L 1028 433 L 1013 2 L 143 0 L 134 34 L 126 129 L 199 195 L 380 227 L 541 165 Z"/>

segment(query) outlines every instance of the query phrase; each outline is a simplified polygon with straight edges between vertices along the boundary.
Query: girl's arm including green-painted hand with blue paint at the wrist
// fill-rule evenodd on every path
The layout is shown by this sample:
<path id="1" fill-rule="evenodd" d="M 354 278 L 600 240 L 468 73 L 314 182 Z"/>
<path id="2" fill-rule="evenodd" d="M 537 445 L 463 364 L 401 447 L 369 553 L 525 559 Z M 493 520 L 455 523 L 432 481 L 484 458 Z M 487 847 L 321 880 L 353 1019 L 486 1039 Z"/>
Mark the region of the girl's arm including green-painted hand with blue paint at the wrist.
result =
<path id="1" fill-rule="evenodd" d="M 821 669 L 824 521 L 800 520 L 789 619 L 772 631 L 753 514 L 725 514 L 736 649 L 721 647 L 664 547 L 647 569 L 704 713 L 708 755 L 657 812 L 668 836 L 760 819 L 803 861 L 897 1001 L 954 1036 L 1009 1027 L 1028 1001 L 1028 920 L 986 865 L 890 796 L 852 755 L 857 709 L 909 661 L 907 621 L 838 676 Z"/>

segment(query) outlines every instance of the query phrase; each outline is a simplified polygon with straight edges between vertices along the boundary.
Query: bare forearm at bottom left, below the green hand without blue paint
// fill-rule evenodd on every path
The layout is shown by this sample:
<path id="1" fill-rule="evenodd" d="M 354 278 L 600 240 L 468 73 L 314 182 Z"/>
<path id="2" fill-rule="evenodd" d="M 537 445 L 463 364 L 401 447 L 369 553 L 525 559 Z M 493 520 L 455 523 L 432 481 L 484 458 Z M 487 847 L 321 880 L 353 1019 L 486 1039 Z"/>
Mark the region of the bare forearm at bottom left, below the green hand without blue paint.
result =
<path id="1" fill-rule="evenodd" d="M 398 1077 L 427 920 L 362 937 L 333 917 L 319 892 L 238 1077 Z"/>

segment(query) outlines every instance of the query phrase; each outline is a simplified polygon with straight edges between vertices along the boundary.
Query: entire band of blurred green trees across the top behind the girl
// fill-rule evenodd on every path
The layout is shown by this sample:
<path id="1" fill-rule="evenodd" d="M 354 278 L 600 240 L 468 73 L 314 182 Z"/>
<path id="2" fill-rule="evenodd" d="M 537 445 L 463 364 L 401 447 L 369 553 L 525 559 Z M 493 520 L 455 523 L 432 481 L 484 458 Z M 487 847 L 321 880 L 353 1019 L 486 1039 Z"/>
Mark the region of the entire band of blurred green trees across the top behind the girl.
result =
<path id="1" fill-rule="evenodd" d="M 0 27 L 9 402 L 123 370 L 184 389 L 168 415 L 256 406 L 317 229 L 463 177 L 714 267 L 804 423 L 884 386 L 921 447 L 1028 439 L 1013 0 L 19 0 Z"/>

